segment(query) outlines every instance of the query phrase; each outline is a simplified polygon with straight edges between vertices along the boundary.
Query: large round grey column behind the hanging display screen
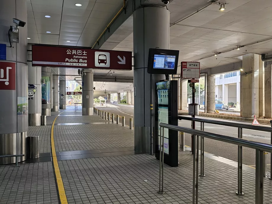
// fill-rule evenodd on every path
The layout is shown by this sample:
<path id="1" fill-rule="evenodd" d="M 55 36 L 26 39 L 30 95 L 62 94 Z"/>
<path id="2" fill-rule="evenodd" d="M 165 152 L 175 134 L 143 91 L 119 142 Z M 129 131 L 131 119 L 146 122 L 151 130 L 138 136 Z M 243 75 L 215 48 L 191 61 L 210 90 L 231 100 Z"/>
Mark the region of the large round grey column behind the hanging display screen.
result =
<path id="1" fill-rule="evenodd" d="M 155 5 L 156 6 L 156 5 Z M 149 48 L 169 49 L 169 11 L 163 7 L 143 7 L 133 13 L 134 50 L 134 148 L 136 151 L 150 152 L 150 74 L 147 73 Z M 164 75 L 153 75 L 153 83 L 165 79 Z M 153 119 L 153 121 L 155 121 Z"/>

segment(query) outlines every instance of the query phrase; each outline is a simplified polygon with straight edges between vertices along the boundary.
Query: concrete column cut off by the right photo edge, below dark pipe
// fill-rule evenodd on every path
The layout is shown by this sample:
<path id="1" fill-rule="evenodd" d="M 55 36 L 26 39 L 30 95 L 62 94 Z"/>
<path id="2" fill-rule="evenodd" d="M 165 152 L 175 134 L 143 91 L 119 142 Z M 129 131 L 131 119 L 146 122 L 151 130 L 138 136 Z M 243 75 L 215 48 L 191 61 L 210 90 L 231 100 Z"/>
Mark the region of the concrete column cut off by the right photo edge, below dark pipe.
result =
<path id="1" fill-rule="evenodd" d="M 265 117 L 272 118 L 272 61 L 264 62 Z"/>

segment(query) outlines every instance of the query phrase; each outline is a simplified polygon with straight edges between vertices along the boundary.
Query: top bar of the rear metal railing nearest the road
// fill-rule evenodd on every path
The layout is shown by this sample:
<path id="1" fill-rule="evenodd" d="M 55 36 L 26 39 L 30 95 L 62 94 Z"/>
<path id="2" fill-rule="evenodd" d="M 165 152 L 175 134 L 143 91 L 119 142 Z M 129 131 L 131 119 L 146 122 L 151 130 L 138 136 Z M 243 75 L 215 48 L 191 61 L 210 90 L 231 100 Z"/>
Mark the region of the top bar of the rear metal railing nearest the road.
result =
<path id="1" fill-rule="evenodd" d="M 226 122 L 226 121 L 216 121 L 216 120 L 208 120 L 208 119 L 199 119 L 199 118 L 189 118 L 185 116 L 178 116 L 179 120 L 190 120 L 195 122 L 205 122 L 209 124 L 216 124 L 216 125 L 225 125 L 230 127 L 238 127 L 238 128 L 245 128 L 245 129 L 254 129 L 259 131 L 265 131 L 265 132 L 272 132 L 271 127 L 264 127 L 264 126 L 255 126 L 255 125 L 249 125 L 249 124 L 243 124 L 243 123 L 234 123 L 234 122 Z"/>

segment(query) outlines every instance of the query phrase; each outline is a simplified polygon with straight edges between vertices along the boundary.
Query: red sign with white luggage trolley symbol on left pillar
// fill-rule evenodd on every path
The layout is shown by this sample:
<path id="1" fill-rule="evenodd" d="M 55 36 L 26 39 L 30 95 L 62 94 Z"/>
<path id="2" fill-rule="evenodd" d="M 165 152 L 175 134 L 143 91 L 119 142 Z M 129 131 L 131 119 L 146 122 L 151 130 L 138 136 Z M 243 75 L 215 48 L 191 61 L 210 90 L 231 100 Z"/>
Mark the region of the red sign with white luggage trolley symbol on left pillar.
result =
<path id="1" fill-rule="evenodd" d="M 0 61 L 0 90 L 16 89 L 16 71 L 14 62 Z"/>

